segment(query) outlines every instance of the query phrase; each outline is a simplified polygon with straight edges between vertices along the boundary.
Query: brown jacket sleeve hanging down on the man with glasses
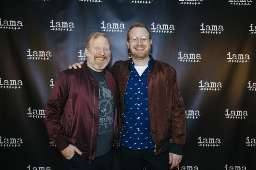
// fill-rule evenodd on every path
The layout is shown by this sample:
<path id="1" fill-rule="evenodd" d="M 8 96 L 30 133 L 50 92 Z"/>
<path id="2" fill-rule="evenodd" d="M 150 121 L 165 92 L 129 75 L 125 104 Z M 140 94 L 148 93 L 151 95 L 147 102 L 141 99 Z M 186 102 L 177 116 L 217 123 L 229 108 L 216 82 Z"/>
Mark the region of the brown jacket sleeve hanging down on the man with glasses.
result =
<path id="1" fill-rule="evenodd" d="M 186 113 L 175 71 L 172 76 L 172 147 L 170 152 L 182 155 L 186 139 Z"/>

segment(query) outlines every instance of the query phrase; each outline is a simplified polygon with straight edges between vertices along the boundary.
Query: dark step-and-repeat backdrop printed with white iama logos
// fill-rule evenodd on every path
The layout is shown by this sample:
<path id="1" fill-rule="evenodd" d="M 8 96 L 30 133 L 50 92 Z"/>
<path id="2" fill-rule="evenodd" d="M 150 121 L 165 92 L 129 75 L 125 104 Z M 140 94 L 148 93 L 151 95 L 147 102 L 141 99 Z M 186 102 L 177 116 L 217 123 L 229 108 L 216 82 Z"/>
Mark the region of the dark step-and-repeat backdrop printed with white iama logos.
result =
<path id="1" fill-rule="evenodd" d="M 109 66 L 129 59 L 134 22 L 177 71 L 187 138 L 174 170 L 256 169 L 256 0 L 1 0 L 1 170 L 61 169 L 44 124 L 52 87 L 94 32 L 111 41 Z"/>

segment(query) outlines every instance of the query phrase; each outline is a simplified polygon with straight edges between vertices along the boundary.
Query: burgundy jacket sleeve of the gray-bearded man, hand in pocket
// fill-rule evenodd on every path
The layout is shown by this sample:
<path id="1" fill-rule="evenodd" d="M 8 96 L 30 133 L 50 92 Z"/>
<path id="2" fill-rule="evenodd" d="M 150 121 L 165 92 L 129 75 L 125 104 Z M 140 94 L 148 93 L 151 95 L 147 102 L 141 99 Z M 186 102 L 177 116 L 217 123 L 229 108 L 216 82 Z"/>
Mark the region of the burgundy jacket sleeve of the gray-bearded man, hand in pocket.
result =
<path id="1" fill-rule="evenodd" d="M 68 96 L 69 88 L 67 75 L 61 72 L 47 101 L 44 119 L 49 137 L 60 151 L 68 147 L 65 133 L 61 125 L 61 115 Z"/>

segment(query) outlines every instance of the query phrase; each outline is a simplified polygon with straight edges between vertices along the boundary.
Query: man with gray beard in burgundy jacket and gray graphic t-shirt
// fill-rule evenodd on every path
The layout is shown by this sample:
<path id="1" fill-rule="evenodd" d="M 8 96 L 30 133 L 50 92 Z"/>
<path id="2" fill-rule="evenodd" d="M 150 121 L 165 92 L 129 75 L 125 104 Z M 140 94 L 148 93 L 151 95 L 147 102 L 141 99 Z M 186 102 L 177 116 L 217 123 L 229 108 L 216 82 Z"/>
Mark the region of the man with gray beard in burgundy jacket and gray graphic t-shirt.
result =
<path id="1" fill-rule="evenodd" d="M 45 123 L 63 155 L 64 170 L 110 170 L 117 145 L 117 89 L 104 70 L 111 44 L 103 33 L 86 40 L 82 69 L 61 72 L 49 96 Z"/>

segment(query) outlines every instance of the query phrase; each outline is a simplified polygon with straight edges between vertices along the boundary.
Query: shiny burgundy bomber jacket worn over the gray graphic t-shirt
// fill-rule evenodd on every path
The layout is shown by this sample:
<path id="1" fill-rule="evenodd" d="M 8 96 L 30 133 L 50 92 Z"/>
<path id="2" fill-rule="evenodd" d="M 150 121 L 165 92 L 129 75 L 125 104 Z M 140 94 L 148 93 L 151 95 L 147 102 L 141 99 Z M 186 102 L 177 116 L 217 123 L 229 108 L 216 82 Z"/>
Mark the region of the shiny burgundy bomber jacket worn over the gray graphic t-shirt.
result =
<path id="1" fill-rule="evenodd" d="M 116 105 L 113 144 L 117 145 L 116 82 L 108 71 L 104 71 L 104 77 Z M 60 151 L 73 144 L 85 158 L 95 158 L 99 123 L 99 81 L 93 79 L 86 62 L 81 69 L 61 72 L 47 101 L 45 123 L 53 144 Z"/>

